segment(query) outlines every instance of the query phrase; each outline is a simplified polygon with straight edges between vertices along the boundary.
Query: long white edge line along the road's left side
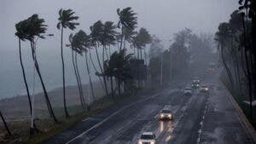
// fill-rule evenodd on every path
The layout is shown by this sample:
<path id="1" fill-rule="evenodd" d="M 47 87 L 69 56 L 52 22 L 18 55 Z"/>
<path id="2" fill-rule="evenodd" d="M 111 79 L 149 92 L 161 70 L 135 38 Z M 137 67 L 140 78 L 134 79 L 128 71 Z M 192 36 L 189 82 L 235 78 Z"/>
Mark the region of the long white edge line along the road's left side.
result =
<path id="1" fill-rule="evenodd" d="M 94 126 L 91 127 L 89 130 L 86 130 L 86 131 L 84 131 L 82 134 L 80 134 L 80 135 L 74 137 L 72 140 L 67 141 L 66 144 L 71 143 L 72 141 L 74 141 L 75 139 L 77 139 L 77 138 L 79 138 L 79 137 L 82 137 L 83 135 L 85 135 L 85 134 L 86 134 L 87 132 L 89 132 L 90 130 L 93 130 L 93 129 L 95 129 L 96 127 L 100 126 L 100 125 L 103 124 L 104 122 L 108 121 L 109 118 L 112 118 L 114 115 L 116 115 L 117 113 L 119 113 L 119 112 L 125 110 L 126 108 L 131 107 L 131 106 L 134 106 L 134 105 L 137 104 L 137 103 L 140 103 L 140 102 L 143 102 L 143 101 L 147 101 L 148 99 L 154 98 L 156 95 L 158 95 L 158 94 L 152 95 L 152 96 L 150 96 L 150 97 L 148 97 L 148 98 L 146 98 L 146 99 L 143 99 L 143 100 L 141 100 L 141 101 L 133 102 L 133 103 L 131 103 L 130 105 L 125 106 L 125 107 L 119 109 L 119 111 L 113 112 L 113 114 L 111 114 L 108 118 L 103 119 L 102 122 L 100 122 L 100 123 L 94 125 Z"/>

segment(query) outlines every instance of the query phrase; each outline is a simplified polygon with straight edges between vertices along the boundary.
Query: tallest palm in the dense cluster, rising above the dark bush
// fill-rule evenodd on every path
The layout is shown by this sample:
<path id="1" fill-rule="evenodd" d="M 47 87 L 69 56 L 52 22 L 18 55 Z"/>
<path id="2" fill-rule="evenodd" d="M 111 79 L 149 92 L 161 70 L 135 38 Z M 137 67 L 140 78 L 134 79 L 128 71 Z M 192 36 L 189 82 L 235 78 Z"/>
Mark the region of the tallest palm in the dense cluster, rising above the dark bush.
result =
<path id="1" fill-rule="evenodd" d="M 117 14 L 119 15 L 119 23 L 118 27 L 121 28 L 121 35 L 120 35 L 120 48 L 122 49 L 122 44 L 124 41 L 124 31 L 125 28 L 130 30 L 131 32 L 136 28 L 137 25 L 137 17 L 136 13 L 133 12 L 131 7 L 125 8 L 125 9 L 117 9 Z"/>

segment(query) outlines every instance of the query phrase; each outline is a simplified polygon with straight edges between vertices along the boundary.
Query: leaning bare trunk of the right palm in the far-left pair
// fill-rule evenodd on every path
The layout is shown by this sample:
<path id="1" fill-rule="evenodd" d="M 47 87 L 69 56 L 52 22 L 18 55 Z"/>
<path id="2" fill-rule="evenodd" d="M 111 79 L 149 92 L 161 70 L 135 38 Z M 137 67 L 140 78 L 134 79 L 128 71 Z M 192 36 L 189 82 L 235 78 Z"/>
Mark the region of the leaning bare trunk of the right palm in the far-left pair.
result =
<path id="1" fill-rule="evenodd" d="M 51 107 L 51 104 L 50 104 L 50 101 L 49 101 L 49 95 L 47 93 L 47 90 L 44 86 L 44 80 L 42 78 L 42 75 L 41 75 L 41 72 L 39 70 L 39 66 L 38 66 L 38 60 L 37 60 L 37 56 L 35 54 L 35 43 L 33 42 L 33 39 L 31 41 L 31 47 L 32 47 L 32 59 L 34 61 L 34 65 L 35 65 L 35 68 L 36 68 L 36 71 L 38 72 L 38 77 L 40 79 L 40 83 L 43 87 L 43 91 L 44 91 L 44 97 L 45 97 L 45 101 L 46 101 L 46 104 L 47 104 L 47 107 L 48 107 L 48 111 L 49 111 L 49 115 L 54 118 L 54 121 L 55 121 L 55 124 L 58 124 L 59 121 L 58 119 L 55 117 L 55 113 L 53 112 L 53 109 Z"/>

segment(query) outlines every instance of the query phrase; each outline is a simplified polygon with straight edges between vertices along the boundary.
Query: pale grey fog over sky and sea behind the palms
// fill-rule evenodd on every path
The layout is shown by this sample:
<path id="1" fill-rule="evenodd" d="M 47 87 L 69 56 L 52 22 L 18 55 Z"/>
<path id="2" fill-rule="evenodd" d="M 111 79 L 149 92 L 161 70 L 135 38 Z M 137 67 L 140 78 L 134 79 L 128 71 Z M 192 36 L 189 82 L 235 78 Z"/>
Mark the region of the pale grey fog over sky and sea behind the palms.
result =
<path id="1" fill-rule="evenodd" d="M 233 0 L 1 0 L 0 1 L 0 98 L 24 92 L 18 60 L 18 43 L 15 23 L 32 14 L 39 14 L 48 25 L 47 37 L 38 41 L 38 59 L 48 89 L 61 85 L 60 31 L 56 29 L 58 10 L 73 9 L 79 15 L 79 29 L 89 32 L 96 20 L 118 21 L 116 9 L 131 7 L 138 17 L 138 28 L 146 27 L 165 43 L 170 44 L 172 34 L 185 27 L 195 33 L 217 31 L 218 24 L 229 20 L 238 3 Z M 71 32 L 65 31 L 64 43 Z M 27 75 L 32 74 L 32 61 L 28 45 L 22 43 Z M 71 67 L 70 49 L 65 48 L 67 84 L 75 84 Z M 28 57 L 28 58 L 27 58 Z M 81 66 L 84 64 L 81 64 Z M 81 68 L 82 69 L 82 68 Z M 85 72 L 85 71 L 83 71 Z M 83 75 L 84 79 L 86 75 Z M 96 78 L 94 78 L 96 80 Z M 32 82 L 32 80 L 30 80 Z M 87 82 L 87 80 L 86 80 Z M 30 83 L 31 85 L 32 83 Z M 39 84 L 38 84 L 39 85 Z"/>

